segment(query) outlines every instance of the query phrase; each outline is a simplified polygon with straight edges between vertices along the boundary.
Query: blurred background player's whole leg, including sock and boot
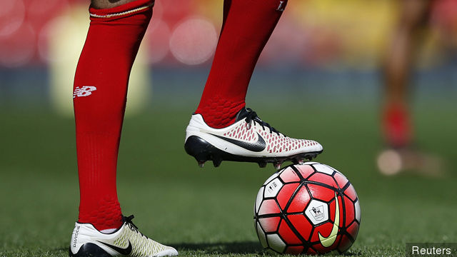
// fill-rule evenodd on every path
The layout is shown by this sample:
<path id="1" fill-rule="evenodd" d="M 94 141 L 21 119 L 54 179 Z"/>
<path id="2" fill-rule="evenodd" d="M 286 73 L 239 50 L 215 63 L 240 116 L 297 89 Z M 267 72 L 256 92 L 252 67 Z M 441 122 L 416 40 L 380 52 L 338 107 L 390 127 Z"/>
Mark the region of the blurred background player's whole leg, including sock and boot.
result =
<path id="1" fill-rule="evenodd" d="M 379 170 L 386 175 L 406 170 L 427 175 L 441 172 L 439 158 L 411 146 L 413 133 L 408 110 L 411 66 L 432 4 L 429 0 L 401 1 L 400 19 L 386 55 L 382 129 L 387 149 L 377 160 Z"/>

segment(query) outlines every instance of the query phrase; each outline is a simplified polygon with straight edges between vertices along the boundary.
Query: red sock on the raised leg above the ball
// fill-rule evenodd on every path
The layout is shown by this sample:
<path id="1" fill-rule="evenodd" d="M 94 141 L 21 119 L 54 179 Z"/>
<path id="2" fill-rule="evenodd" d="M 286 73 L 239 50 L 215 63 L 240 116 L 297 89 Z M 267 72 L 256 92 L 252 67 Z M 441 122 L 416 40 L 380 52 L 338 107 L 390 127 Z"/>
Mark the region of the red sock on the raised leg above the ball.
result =
<path id="1" fill-rule="evenodd" d="M 224 128 L 235 121 L 266 41 L 287 0 L 225 0 L 224 23 L 208 81 L 196 114 Z"/>

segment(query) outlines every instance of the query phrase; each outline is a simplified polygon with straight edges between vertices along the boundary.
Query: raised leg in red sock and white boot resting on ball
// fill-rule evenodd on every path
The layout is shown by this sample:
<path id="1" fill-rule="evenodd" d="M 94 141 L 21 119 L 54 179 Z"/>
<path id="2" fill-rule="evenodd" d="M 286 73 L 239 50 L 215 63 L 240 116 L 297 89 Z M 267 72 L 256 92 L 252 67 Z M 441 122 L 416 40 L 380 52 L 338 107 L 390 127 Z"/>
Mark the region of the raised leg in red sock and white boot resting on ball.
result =
<path id="1" fill-rule="evenodd" d="M 258 57 L 287 0 L 225 0 L 224 23 L 201 101 L 186 130 L 187 153 L 199 161 L 251 161 L 280 166 L 321 153 L 315 141 L 283 136 L 245 109 Z"/>

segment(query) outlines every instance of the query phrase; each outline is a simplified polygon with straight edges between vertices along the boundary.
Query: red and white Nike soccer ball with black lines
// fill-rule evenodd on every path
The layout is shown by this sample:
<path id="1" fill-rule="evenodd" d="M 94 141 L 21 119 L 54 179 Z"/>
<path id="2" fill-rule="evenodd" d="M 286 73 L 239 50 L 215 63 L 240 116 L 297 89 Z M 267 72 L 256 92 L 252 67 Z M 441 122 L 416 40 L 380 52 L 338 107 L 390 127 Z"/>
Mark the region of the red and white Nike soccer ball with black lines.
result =
<path id="1" fill-rule="evenodd" d="M 343 253 L 360 226 L 357 193 L 342 173 L 316 162 L 274 173 L 258 191 L 254 222 L 263 248 L 276 253 Z"/>

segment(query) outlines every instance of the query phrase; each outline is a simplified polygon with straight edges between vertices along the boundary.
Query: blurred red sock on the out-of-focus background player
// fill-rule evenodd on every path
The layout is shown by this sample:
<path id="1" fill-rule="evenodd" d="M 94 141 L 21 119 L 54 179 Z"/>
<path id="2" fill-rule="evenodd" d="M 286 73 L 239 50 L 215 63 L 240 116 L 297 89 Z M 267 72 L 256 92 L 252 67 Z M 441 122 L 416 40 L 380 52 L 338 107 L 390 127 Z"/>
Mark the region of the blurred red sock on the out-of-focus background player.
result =
<path id="1" fill-rule="evenodd" d="M 388 146 L 402 148 L 412 139 L 410 117 L 403 104 L 388 104 L 383 114 L 383 132 Z"/>

